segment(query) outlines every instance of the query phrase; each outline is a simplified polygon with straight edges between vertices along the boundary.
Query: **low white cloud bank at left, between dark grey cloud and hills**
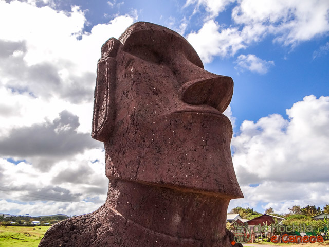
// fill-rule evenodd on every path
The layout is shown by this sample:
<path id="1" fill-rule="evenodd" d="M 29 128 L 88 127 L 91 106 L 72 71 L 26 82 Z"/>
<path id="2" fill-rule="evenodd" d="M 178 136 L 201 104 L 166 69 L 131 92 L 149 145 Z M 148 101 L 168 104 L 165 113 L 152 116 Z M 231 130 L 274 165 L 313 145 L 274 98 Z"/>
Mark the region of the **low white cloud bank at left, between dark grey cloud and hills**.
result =
<path id="1" fill-rule="evenodd" d="M 106 198 L 108 180 L 104 166 L 104 152 L 100 149 L 88 149 L 57 161 L 45 171 L 33 164 L 20 162 L 16 165 L 0 158 L 0 194 L 3 199 L 0 211 L 13 211 L 19 215 L 89 213 Z"/>

